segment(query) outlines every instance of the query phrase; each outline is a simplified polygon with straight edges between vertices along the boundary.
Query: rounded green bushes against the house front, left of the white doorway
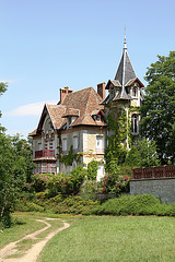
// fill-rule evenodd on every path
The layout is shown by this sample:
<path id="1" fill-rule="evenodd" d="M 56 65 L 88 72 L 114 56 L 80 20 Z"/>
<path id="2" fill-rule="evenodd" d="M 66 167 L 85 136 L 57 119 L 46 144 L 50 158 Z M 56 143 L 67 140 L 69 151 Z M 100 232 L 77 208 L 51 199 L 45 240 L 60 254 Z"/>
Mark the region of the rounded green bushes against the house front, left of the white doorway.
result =
<path id="1" fill-rule="evenodd" d="M 47 183 L 49 195 L 77 194 L 86 176 L 86 169 L 78 166 L 70 174 L 58 174 L 50 178 Z"/>

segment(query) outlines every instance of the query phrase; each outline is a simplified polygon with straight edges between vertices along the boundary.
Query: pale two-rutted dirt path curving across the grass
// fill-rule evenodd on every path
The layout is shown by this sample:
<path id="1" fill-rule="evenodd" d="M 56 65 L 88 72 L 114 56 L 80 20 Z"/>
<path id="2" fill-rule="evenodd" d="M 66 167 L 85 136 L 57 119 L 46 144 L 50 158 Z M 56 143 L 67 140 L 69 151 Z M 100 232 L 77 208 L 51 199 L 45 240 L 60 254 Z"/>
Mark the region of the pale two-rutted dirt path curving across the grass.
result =
<path id="1" fill-rule="evenodd" d="M 40 233 L 43 233 L 46 229 L 48 229 L 49 227 L 51 227 L 51 225 L 46 221 L 43 221 L 43 219 L 37 219 L 37 221 L 45 223 L 46 227 L 44 227 L 35 233 L 32 233 L 15 242 L 11 242 L 11 243 L 7 245 L 3 249 L 0 250 L 0 262 L 36 262 L 40 251 L 43 250 L 43 248 L 45 247 L 47 241 L 50 240 L 56 234 L 58 234 L 59 231 L 62 231 L 63 229 L 66 229 L 70 226 L 68 223 L 63 222 L 62 227 L 59 227 L 58 229 L 48 234 L 44 240 L 38 241 L 37 243 L 34 243 L 32 246 L 32 248 L 28 249 L 23 257 L 15 258 L 15 259 L 11 259 L 11 258 L 8 259 L 7 257 L 18 253 L 16 246 L 20 241 L 22 241 L 24 239 L 36 239 L 37 235 L 39 235 Z M 49 218 L 48 218 L 48 221 L 49 221 Z"/>

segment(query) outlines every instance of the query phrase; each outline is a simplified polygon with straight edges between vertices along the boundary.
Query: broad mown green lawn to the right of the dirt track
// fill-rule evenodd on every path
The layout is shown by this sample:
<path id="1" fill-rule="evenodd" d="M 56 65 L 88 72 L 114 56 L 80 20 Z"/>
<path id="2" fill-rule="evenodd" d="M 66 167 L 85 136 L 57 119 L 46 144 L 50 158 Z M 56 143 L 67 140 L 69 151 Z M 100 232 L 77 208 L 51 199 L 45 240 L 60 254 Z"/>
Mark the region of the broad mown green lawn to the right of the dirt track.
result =
<path id="1" fill-rule="evenodd" d="M 38 262 L 174 262 L 172 217 L 88 217 L 56 235 Z"/>

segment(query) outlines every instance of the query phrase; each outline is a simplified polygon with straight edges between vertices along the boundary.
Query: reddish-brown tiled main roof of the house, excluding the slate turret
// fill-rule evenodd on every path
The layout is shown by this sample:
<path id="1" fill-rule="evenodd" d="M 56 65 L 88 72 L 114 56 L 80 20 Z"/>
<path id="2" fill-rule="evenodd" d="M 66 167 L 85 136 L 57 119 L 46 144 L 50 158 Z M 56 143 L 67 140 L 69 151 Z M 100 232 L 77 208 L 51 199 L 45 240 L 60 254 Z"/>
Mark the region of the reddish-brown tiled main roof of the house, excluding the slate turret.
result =
<path id="1" fill-rule="evenodd" d="M 100 105 L 101 103 L 102 97 L 94 91 L 93 87 L 70 93 L 65 97 L 62 104 L 45 105 L 38 128 L 31 134 L 35 135 L 42 132 L 44 119 L 47 114 L 49 115 L 52 127 L 56 130 L 61 129 L 67 123 L 66 118 L 69 116 L 78 117 L 70 124 L 71 127 L 80 124 L 105 126 L 104 122 L 96 122 L 92 117 L 92 112 L 94 110 L 103 109 L 103 106 Z"/>

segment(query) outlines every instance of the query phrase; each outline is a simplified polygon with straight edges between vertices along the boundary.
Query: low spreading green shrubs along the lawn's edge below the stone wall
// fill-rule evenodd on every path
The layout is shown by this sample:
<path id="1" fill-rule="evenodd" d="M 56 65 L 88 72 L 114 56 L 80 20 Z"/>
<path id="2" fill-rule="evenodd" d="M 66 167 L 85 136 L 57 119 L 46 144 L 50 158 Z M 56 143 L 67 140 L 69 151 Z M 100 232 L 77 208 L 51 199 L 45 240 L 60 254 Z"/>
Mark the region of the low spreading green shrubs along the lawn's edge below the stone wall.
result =
<path id="1" fill-rule="evenodd" d="M 90 212 L 96 215 L 167 215 L 175 216 L 175 204 L 162 204 L 151 194 L 122 195 L 110 199 Z"/>

